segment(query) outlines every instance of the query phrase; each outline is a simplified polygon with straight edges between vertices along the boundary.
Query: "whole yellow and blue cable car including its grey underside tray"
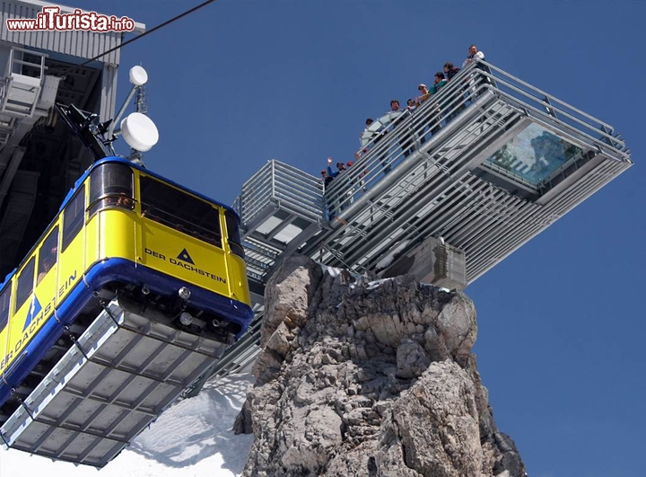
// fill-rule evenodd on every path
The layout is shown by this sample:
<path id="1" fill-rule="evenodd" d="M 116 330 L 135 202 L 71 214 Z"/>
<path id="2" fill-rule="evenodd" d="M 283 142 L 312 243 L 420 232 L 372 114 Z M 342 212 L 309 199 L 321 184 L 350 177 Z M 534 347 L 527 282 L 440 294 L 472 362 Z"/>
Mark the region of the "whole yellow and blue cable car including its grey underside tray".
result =
<path id="1" fill-rule="evenodd" d="M 73 107 L 59 110 L 77 129 L 92 123 Z M 104 144 L 84 132 L 98 153 Z M 249 327 L 239 228 L 232 208 L 143 165 L 118 156 L 92 163 L 0 284 L 0 441 L 98 467 L 118 454 Z M 108 325 L 95 330 L 100 316 Z M 96 358 L 101 347 L 109 358 Z M 74 366 L 61 365 L 65 357 Z M 67 397 L 54 399 L 60 384 Z M 118 395 L 107 398 L 114 389 Z M 155 390 L 156 401 L 142 411 Z M 106 401 L 115 404 L 113 414 L 105 413 Z M 88 402 L 92 420 L 83 426 L 60 417 L 86 419 L 77 409 Z M 128 420 L 124 409 L 136 418 Z M 61 438 L 52 437 L 43 446 L 45 437 L 71 431 L 83 434 L 77 445 L 65 437 L 65 446 L 53 449 Z"/>

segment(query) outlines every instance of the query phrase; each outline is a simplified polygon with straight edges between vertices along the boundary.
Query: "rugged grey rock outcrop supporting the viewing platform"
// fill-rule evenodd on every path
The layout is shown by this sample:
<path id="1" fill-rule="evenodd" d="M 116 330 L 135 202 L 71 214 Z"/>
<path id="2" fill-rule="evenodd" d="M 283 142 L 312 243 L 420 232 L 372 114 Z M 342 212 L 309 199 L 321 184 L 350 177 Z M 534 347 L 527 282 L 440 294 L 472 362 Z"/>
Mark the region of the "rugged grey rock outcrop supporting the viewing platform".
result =
<path id="1" fill-rule="evenodd" d="M 266 287 L 246 476 L 525 476 L 471 348 L 467 296 L 292 257 Z"/>

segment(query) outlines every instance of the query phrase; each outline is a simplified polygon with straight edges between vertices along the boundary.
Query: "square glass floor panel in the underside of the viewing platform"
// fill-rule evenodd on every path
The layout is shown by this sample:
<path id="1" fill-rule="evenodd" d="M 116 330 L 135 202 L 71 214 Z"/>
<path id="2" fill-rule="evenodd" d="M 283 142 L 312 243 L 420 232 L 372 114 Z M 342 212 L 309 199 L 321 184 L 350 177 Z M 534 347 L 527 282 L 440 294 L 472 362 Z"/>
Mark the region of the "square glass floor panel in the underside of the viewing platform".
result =
<path id="1" fill-rule="evenodd" d="M 484 165 L 538 187 L 563 164 L 581 153 L 580 147 L 542 126 L 530 124 L 491 155 Z"/>

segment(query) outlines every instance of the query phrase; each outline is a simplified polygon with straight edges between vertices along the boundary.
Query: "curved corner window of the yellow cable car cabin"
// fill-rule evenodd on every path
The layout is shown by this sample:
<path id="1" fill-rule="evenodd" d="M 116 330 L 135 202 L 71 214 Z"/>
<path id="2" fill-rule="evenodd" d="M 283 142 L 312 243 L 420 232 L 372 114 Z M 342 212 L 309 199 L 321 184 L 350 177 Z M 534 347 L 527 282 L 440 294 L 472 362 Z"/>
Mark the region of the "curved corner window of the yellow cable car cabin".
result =
<path id="1" fill-rule="evenodd" d="M 126 164 L 106 163 L 94 169 L 90 178 L 90 216 L 107 207 L 135 206 L 133 172 Z"/>

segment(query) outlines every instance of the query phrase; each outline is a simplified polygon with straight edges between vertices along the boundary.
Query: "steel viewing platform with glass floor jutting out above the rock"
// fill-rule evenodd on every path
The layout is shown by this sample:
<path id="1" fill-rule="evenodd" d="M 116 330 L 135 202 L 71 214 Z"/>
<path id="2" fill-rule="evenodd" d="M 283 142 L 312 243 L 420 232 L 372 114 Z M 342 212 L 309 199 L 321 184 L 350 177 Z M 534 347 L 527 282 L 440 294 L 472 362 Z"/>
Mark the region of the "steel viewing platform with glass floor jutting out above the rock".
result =
<path id="1" fill-rule="evenodd" d="M 463 254 L 466 287 L 633 164 L 610 125 L 485 62 L 363 142 L 325 194 L 277 161 L 245 183 L 253 282 L 290 252 L 380 272 L 434 238 Z"/>

